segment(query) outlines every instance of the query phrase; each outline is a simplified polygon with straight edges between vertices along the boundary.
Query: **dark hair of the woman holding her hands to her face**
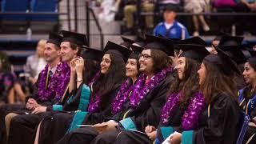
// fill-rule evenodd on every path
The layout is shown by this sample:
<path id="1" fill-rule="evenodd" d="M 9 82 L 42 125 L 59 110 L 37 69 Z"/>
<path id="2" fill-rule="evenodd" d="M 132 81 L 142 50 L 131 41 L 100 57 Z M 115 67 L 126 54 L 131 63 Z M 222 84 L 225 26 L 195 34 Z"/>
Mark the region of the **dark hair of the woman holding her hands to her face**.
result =
<path id="1" fill-rule="evenodd" d="M 82 73 L 83 82 L 88 85 L 89 82 L 94 78 L 94 75 L 100 68 L 100 62 L 93 59 L 84 59 L 84 72 Z"/>

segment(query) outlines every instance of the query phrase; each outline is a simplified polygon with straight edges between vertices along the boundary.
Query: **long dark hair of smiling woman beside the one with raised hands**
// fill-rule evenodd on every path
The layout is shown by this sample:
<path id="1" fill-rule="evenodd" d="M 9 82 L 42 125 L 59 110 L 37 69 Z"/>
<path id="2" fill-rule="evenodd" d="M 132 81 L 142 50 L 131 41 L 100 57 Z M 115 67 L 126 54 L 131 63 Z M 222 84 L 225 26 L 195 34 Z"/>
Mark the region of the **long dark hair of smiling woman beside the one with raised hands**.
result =
<path id="1" fill-rule="evenodd" d="M 109 94 L 111 90 L 118 88 L 122 85 L 122 82 L 126 79 L 126 68 L 125 62 L 118 54 L 110 54 L 111 64 L 109 70 L 106 74 L 101 74 L 98 81 L 94 85 L 93 95 L 98 93 L 101 95 L 103 103 L 106 103 L 107 97 L 105 95 Z M 102 104 L 103 104 L 102 103 Z M 104 107 L 104 106 L 102 106 Z"/>

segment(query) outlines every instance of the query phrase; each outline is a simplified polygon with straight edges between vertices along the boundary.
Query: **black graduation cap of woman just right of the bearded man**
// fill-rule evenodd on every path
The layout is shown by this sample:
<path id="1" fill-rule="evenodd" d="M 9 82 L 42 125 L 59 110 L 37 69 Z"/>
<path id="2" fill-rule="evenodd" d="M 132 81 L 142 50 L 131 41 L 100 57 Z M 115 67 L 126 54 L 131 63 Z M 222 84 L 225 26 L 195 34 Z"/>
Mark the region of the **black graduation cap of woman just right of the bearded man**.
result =
<path id="1" fill-rule="evenodd" d="M 206 47 L 202 45 L 181 44 L 178 47 L 183 51 L 179 57 L 192 58 L 198 62 L 202 62 L 203 58 L 210 54 Z"/>

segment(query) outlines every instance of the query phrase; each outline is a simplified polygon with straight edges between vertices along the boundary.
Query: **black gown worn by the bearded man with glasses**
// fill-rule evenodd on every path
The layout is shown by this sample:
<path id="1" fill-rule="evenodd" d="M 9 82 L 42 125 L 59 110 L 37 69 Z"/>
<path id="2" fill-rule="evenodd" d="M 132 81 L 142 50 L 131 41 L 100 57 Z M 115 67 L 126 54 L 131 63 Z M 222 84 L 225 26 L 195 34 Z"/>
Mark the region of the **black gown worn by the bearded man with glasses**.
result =
<path id="1" fill-rule="evenodd" d="M 110 119 L 118 122 L 122 120 L 126 112 L 130 110 L 130 112 L 126 114 L 126 118 L 131 118 L 138 130 L 142 130 L 148 125 L 158 126 L 161 117 L 161 109 L 166 102 L 166 94 L 173 80 L 173 74 L 168 75 L 142 99 L 142 102 L 140 102 L 136 109 L 130 109 L 129 103 L 126 102 L 125 108 Z M 98 134 L 94 128 L 84 127 L 66 134 L 58 143 L 114 143 L 115 138 L 122 130 L 123 128 L 119 124 L 116 130 Z"/>

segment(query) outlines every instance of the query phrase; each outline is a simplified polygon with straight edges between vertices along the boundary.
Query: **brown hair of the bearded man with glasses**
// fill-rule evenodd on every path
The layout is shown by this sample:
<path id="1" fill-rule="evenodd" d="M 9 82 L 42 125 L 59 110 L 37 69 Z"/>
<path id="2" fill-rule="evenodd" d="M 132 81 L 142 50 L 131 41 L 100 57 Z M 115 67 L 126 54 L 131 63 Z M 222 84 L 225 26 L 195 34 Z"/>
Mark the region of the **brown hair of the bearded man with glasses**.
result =
<path id="1" fill-rule="evenodd" d="M 163 51 L 151 49 L 150 52 L 154 62 L 153 64 L 154 73 L 157 73 L 163 68 L 165 68 L 166 66 L 170 66 L 172 64 L 171 58 L 168 57 L 168 55 Z"/>

